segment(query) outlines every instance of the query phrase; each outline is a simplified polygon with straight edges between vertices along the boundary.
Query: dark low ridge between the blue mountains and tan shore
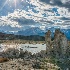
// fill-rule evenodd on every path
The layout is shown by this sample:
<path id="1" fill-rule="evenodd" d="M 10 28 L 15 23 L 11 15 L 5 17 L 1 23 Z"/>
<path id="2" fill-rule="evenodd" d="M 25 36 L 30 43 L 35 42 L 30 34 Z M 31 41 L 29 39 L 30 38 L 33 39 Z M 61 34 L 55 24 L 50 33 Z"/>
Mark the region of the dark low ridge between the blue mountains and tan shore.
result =
<path id="1" fill-rule="evenodd" d="M 34 40 L 34 41 L 44 41 L 44 36 L 39 35 L 30 35 L 30 36 L 23 36 L 23 35 L 14 35 L 14 34 L 6 34 L 0 32 L 0 40 Z"/>

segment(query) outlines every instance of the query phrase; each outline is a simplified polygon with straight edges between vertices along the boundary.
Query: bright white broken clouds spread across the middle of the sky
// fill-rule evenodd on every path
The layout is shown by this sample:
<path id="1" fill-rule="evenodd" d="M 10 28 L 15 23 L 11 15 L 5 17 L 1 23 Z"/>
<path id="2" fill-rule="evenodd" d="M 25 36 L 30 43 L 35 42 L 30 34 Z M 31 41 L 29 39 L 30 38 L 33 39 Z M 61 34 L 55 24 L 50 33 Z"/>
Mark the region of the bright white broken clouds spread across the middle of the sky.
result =
<path id="1" fill-rule="evenodd" d="M 62 2 L 65 3 L 63 0 Z M 60 28 L 67 28 L 70 23 L 66 23 L 66 20 L 61 20 L 61 17 L 70 18 L 70 12 L 67 8 L 64 7 L 58 7 L 58 6 L 51 6 L 49 4 L 45 4 L 40 2 L 39 0 L 30 0 L 30 2 L 27 1 L 27 3 L 33 5 L 32 8 L 29 6 L 28 11 L 25 11 L 24 9 L 17 9 L 13 13 L 9 13 L 7 16 L 0 17 L 0 25 L 10 25 L 11 27 L 17 27 L 22 28 L 19 24 L 19 22 L 14 21 L 13 19 L 32 19 L 36 23 L 39 24 L 45 24 L 40 26 L 40 28 L 45 29 L 45 27 L 60 27 Z M 52 8 L 57 8 L 57 12 L 53 11 Z M 33 11 L 33 9 L 36 12 Z M 58 16 L 56 14 L 59 14 Z M 44 15 L 45 14 L 45 15 Z M 12 20 L 11 20 L 12 19 Z M 49 21 L 49 22 L 48 22 Z M 62 25 L 62 26 L 61 26 Z M 65 26 L 64 26 L 65 25 Z M 35 25 L 32 25 L 34 27 Z"/>

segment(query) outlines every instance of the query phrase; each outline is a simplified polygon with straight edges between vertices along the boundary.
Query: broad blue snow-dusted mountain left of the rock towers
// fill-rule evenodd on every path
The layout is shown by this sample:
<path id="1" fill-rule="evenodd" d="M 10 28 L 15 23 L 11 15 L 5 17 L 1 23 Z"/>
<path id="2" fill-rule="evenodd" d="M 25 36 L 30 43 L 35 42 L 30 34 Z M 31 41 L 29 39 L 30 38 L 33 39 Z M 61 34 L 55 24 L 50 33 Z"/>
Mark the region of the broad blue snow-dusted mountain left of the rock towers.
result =
<path id="1" fill-rule="evenodd" d="M 26 30 L 18 31 L 18 35 L 30 36 L 30 35 L 40 35 L 43 36 L 45 33 L 38 27 L 32 27 Z"/>

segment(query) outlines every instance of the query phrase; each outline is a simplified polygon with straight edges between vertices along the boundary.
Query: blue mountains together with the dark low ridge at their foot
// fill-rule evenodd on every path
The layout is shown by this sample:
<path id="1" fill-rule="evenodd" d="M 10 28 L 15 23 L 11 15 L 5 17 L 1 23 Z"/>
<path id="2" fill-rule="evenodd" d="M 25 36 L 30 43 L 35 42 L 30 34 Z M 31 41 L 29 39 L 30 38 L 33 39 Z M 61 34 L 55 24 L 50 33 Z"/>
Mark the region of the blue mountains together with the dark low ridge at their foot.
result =
<path id="1" fill-rule="evenodd" d="M 44 40 L 45 33 L 50 30 L 52 32 L 52 38 L 54 37 L 54 32 L 57 28 L 45 28 L 45 30 L 41 30 L 38 27 L 28 28 L 26 30 L 18 31 L 17 33 L 8 33 L 8 32 L 0 32 L 0 39 L 25 39 L 25 40 Z M 60 29 L 63 32 L 67 39 L 70 40 L 70 29 Z M 32 38 L 33 39 L 32 39 Z M 43 37 L 43 38 L 41 38 Z M 28 39 L 27 39 L 28 38 Z M 36 39 L 35 39 L 36 38 Z"/>

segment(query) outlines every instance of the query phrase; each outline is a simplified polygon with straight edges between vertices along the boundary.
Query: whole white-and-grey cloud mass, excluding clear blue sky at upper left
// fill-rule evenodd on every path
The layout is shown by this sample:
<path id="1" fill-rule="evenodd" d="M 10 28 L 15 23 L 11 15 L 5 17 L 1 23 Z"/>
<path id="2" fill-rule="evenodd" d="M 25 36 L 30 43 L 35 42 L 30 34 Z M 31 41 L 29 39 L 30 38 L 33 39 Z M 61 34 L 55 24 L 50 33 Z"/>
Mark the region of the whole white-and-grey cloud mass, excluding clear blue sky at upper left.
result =
<path id="1" fill-rule="evenodd" d="M 68 2 L 68 5 L 67 5 Z M 25 5 L 23 5 L 25 4 Z M 23 9 L 14 10 L 0 17 L 0 26 L 11 26 L 19 30 L 39 27 L 69 28 L 69 0 L 26 0 Z"/>

